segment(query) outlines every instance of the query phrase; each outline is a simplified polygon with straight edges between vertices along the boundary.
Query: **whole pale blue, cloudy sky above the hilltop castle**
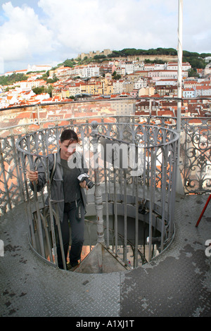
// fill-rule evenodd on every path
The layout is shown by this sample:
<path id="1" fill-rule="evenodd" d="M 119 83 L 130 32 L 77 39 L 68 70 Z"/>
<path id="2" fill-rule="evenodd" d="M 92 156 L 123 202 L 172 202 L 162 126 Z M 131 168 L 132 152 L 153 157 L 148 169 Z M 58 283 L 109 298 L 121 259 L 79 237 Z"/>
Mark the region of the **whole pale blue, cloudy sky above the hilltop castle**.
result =
<path id="1" fill-rule="evenodd" d="M 0 0 L 0 73 L 89 51 L 177 49 L 179 0 Z M 211 1 L 183 1 L 182 48 L 211 53 Z"/>

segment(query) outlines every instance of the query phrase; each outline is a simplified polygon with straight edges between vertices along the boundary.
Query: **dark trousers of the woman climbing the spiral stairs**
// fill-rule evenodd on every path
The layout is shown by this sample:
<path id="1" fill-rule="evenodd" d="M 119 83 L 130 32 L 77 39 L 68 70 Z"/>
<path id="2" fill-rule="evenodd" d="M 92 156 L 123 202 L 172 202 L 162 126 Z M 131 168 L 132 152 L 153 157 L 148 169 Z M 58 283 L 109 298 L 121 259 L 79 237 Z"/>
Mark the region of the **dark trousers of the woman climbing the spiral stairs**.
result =
<path id="1" fill-rule="evenodd" d="M 76 266 L 81 257 L 82 246 L 84 243 L 84 204 L 81 200 L 77 204 L 72 202 L 63 213 L 63 221 L 60 222 L 60 228 L 63 238 L 63 249 L 65 254 L 65 263 L 67 263 L 68 247 L 70 242 L 71 227 L 71 248 L 70 248 L 70 264 Z M 63 258 L 60 249 L 60 242 L 57 243 L 58 268 L 63 269 Z"/>

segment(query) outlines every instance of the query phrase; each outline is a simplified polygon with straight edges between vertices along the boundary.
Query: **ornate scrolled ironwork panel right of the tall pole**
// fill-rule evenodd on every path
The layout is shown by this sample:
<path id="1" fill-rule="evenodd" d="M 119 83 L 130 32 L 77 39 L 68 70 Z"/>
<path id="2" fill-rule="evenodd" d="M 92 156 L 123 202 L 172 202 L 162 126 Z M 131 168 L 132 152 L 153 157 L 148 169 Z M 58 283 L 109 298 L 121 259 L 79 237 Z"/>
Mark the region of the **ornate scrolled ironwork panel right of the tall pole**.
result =
<path id="1" fill-rule="evenodd" d="M 200 123 L 198 123 L 200 121 Z M 186 193 L 211 190 L 211 126 L 207 119 L 181 121 L 181 176 Z"/>

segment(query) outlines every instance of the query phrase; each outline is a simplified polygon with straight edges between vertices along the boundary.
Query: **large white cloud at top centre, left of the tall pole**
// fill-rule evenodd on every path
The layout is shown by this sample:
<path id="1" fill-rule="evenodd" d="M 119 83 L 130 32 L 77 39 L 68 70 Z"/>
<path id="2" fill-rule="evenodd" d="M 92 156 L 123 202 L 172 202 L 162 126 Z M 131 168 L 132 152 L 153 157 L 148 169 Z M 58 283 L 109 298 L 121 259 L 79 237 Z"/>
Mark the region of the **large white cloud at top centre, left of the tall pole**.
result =
<path id="1" fill-rule="evenodd" d="M 162 10 L 153 8 L 151 1 L 39 0 L 38 5 L 48 16 L 46 24 L 58 42 L 78 52 L 177 46 L 177 21 L 164 22 Z M 168 8 L 172 11 L 172 6 Z M 177 6 L 173 9 L 175 15 Z"/>

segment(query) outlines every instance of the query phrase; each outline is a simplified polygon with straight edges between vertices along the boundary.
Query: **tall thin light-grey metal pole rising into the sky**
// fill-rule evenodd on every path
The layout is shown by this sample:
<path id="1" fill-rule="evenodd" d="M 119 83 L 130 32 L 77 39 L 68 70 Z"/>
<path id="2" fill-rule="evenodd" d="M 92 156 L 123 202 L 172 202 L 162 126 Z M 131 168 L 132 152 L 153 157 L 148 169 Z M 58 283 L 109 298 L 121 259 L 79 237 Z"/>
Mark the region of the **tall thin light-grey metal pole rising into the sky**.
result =
<path id="1" fill-rule="evenodd" d="M 183 21 L 183 0 L 179 0 L 178 8 L 178 72 L 177 72 L 177 132 L 179 133 L 178 144 L 178 161 L 177 161 L 177 192 L 184 194 L 184 187 L 181 183 L 181 175 L 179 171 L 179 155 L 180 155 L 180 134 L 181 134 L 181 82 L 182 82 L 182 21 Z"/>

